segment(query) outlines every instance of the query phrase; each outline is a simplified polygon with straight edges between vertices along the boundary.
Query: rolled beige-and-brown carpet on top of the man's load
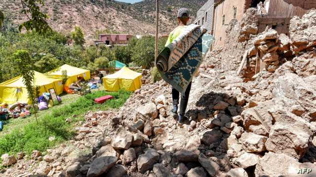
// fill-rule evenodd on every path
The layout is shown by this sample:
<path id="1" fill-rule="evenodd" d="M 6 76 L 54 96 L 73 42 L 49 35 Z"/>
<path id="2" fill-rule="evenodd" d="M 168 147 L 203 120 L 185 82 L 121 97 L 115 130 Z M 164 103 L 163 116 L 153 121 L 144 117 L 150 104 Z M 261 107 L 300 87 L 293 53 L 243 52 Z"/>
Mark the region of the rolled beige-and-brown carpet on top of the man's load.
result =
<path id="1" fill-rule="evenodd" d="M 205 32 L 198 25 L 189 25 L 176 39 L 166 46 L 156 60 L 158 71 L 169 71 L 193 46 L 198 37 Z"/>

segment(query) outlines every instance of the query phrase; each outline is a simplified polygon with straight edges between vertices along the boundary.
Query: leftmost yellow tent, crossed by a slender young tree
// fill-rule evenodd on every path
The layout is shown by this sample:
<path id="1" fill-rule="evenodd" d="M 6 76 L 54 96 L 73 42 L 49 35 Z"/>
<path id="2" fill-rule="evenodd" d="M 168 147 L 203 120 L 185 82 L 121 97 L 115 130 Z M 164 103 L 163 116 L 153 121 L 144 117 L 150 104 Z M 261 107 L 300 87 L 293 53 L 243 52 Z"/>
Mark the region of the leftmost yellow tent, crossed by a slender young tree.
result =
<path id="1" fill-rule="evenodd" d="M 54 88 L 56 94 L 63 93 L 62 78 L 52 78 L 46 74 L 34 71 L 35 87 L 40 87 L 40 95 L 49 93 L 49 89 Z M 16 102 L 28 103 L 28 92 L 21 76 L 0 83 L 0 103 L 13 104 Z"/>

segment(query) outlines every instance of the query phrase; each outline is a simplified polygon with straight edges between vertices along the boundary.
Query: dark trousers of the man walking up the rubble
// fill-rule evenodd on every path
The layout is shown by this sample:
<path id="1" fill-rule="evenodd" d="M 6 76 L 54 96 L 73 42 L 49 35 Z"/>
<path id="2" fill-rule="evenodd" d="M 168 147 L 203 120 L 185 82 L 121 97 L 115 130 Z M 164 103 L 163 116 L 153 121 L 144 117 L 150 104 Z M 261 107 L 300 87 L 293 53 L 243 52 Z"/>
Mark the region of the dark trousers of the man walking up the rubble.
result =
<path id="1" fill-rule="evenodd" d="M 181 115 L 185 114 L 186 112 L 186 108 L 188 105 L 188 100 L 189 100 L 189 95 L 190 95 L 190 90 L 191 90 L 191 84 L 192 82 L 190 82 L 190 84 L 188 85 L 184 95 L 181 94 L 181 103 L 180 103 L 180 110 L 179 113 Z M 173 100 L 173 105 L 179 105 L 179 95 L 180 93 L 172 87 L 172 100 Z"/>

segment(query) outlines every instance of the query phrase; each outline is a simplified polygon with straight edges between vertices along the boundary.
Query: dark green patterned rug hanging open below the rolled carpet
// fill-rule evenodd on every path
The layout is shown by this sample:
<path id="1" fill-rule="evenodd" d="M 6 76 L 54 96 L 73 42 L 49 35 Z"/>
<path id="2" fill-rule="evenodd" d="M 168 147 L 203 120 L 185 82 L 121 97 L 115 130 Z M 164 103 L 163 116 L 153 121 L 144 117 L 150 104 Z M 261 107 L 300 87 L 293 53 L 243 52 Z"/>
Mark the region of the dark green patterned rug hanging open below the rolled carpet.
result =
<path id="1" fill-rule="evenodd" d="M 158 70 L 161 77 L 176 90 L 183 93 L 192 81 L 214 40 L 215 38 L 210 34 L 201 34 L 189 51 L 175 62 L 168 71 Z"/>

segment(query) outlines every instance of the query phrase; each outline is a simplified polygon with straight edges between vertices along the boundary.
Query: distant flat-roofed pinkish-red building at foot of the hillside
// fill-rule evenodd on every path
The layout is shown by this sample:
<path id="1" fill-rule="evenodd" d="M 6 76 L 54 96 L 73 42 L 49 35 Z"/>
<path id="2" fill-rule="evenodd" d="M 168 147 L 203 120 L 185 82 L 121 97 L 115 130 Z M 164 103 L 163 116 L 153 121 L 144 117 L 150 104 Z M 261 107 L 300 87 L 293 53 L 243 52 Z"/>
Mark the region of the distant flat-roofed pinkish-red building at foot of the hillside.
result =
<path id="1" fill-rule="evenodd" d="M 95 40 L 95 44 L 104 43 L 106 45 L 126 45 L 134 35 L 127 34 L 100 34 L 99 39 Z"/>

